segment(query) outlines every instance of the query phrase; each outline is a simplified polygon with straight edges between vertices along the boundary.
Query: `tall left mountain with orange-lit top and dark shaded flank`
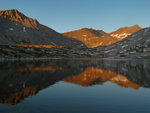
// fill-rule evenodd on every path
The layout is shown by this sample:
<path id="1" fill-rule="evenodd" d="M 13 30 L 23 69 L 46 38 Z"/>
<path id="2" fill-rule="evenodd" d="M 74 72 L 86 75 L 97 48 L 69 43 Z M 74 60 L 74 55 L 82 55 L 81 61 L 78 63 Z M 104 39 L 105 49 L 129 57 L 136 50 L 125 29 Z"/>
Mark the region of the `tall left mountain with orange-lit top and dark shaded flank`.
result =
<path id="1" fill-rule="evenodd" d="M 62 36 L 16 9 L 0 11 L 0 45 L 84 46 L 78 40 Z"/>

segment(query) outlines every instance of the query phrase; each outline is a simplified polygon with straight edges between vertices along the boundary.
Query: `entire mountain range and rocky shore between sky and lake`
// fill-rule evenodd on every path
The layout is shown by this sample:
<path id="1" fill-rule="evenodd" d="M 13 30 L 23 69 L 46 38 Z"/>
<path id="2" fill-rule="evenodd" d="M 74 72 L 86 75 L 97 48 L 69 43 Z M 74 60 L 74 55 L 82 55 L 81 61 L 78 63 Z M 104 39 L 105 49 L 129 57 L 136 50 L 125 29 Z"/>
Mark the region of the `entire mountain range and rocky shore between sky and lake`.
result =
<path id="1" fill-rule="evenodd" d="M 16 9 L 0 11 L 0 58 L 149 58 L 150 28 L 58 33 Z"/>

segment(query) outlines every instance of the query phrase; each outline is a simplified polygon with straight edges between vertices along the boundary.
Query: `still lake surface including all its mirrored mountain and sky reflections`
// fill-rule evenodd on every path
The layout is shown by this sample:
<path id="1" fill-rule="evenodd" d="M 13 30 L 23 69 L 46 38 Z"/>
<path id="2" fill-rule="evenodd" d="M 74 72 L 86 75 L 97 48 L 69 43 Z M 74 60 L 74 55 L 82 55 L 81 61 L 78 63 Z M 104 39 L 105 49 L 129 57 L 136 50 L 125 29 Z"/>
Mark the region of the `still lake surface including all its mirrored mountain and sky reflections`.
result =
<path id="1" fill-rule="evenodd" d="M 0 62 L 0 113 L 149 113 L 149 60 Z"/>

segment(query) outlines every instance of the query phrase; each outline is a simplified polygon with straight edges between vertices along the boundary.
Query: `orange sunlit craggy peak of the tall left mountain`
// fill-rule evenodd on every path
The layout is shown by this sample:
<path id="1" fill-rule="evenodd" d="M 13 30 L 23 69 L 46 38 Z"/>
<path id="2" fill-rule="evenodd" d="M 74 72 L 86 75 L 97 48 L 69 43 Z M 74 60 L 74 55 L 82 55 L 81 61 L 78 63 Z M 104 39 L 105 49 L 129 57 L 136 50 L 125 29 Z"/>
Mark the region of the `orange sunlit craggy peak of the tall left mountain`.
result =
<path id="1" fill-rule="evenodd" d="M 0 11 L 0 22 L 18 22 L 26 27 L 37 28 L 38 21 L 25 16 L 17 9 L 9 9 Z"/>

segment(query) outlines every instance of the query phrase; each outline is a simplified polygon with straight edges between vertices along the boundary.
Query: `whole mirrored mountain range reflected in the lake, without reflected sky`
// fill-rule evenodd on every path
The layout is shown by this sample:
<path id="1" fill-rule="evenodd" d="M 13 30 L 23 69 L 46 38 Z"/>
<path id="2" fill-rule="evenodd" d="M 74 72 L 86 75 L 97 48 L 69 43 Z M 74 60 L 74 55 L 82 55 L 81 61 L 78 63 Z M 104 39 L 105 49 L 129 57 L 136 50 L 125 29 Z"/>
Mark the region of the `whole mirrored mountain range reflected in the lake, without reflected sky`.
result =
<path id="1" fill-rule="evenodd" d="M 81 86 L 112 82 L 138 90 L 150 87 L 146 60 L 48 60 L 0 63 L 0 103 L 16 105 L 56 82 Z"/>

